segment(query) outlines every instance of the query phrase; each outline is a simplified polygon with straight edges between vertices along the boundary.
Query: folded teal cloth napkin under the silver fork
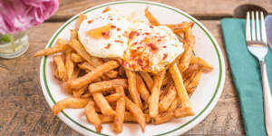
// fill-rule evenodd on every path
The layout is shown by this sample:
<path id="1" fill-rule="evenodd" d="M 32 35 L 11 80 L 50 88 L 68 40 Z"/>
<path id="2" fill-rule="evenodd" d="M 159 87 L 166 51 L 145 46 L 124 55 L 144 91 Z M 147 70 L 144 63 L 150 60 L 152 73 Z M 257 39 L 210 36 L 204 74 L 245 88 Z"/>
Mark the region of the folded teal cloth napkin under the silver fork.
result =
<path id="1" fill-rule="evenodd" d="M 245 131 L 248 136 L 266 136 L 260 68 L 257 59 L 248 52 L 245 40 L 246 20 L 224 18 L 221 20 L 221 27 Z M 271 86 L 272 53 L 268 50 L 266 63 Z"/>

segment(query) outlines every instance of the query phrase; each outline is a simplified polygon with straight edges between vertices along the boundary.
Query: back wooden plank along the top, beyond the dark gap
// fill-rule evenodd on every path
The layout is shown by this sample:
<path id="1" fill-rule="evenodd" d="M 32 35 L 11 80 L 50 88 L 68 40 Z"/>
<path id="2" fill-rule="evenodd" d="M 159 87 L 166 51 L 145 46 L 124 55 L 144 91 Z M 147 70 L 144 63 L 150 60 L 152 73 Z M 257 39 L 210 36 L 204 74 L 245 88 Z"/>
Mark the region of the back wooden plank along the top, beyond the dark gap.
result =
<path id="1" fill-rule="evenodd" d="M 73 15 L 82 12 L 85 9 L 95 5 L 112 2 L 114 0 L 62 0 L 60 7 L 52 20 L 65 20 Z M 272 14 L 272 1 L 271 0 L 151 0 L 161 4 L 171 5 L 193 15 L 197 18 L 213 18 L 222 16 L 231 16 L 233 11 L 239 5 L 258 5 Z"/>

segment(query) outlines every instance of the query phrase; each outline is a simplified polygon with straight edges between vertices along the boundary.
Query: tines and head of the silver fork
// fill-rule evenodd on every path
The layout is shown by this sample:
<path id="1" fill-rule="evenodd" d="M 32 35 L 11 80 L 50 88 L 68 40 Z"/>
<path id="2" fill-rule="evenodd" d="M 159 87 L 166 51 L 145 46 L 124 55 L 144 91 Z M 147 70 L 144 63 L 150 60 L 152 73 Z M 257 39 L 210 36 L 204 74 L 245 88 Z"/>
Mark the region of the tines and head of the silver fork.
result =
<path id="1" fill-rule="evenodd" d="M 259 25 L 261 26 L 259 27 Z M 260 12 L 260 24 L 259 24 L 259 12 L 256 11 L 256 14 L 254 14 L 254 11 L 251 11 L 251 30 L 250 30 L 250 12 L 247 13 L 246 39 L 247 42 L 263 42 L 267 44 L 267 32 L 263 12 Z"/>

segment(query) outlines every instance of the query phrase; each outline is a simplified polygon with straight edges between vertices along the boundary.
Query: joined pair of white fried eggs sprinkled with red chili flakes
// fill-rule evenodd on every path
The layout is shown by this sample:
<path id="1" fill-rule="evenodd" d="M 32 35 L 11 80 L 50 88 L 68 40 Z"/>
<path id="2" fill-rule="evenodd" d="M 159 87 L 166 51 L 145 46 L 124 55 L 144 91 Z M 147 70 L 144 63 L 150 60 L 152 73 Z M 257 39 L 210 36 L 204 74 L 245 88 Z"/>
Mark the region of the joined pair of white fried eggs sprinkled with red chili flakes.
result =
<path id="1" fill-rule="evenodd" d="M 167 26 L 131 19 L 115 10 L 88 16 L 78 35 L 92 56 L 119 57 L 123 67 L 132 71 L 159 73 L 183 53 L 182 43 Z"/>

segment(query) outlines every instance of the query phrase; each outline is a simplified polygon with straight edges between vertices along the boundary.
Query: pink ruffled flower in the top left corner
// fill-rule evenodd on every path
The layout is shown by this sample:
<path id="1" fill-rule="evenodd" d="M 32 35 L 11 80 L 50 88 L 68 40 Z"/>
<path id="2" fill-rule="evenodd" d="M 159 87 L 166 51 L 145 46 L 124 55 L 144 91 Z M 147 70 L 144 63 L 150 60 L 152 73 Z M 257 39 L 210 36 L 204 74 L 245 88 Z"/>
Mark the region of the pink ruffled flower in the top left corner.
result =
<path id="1" fill-rule="evenodd" d="M 58 6 L 58 0 L 0 0 L 0 34 L 14 34 L 42 24 Z"/>

